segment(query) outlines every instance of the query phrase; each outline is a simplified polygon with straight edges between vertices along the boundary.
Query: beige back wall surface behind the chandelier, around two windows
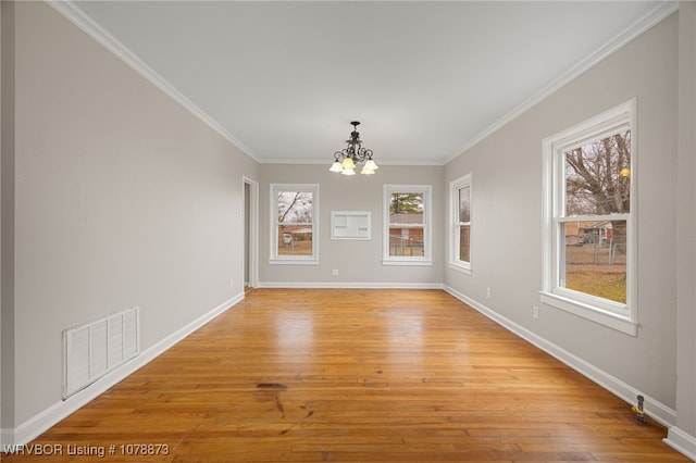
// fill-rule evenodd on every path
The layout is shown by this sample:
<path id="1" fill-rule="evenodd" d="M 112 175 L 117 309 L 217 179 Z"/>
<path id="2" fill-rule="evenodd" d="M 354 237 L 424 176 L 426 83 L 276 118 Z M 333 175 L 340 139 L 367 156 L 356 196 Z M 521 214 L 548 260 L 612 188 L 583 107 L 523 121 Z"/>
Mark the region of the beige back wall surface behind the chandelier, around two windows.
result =
<path id="1" fill-rule="evenodd" d="M 376 162 L 380 163 L 378 158 Z M 432 286 L 443 281 L 445 188 L 442 166 L 383 165 L 375 175 L 344 175 L 325 165 L 263 164 L 260 180 L 259 280 L 262 286 Z M 270 265 L 270 185 L 319 184 L 319 265 Z M 385 184 L 433 187 L 433 264 L 430 266 L 382 265 L 383 187 Z M 331 239 L 331 211 L 371 211 L 372 239 Z M 338 276 L 332 275 L 337 268 Z"/>

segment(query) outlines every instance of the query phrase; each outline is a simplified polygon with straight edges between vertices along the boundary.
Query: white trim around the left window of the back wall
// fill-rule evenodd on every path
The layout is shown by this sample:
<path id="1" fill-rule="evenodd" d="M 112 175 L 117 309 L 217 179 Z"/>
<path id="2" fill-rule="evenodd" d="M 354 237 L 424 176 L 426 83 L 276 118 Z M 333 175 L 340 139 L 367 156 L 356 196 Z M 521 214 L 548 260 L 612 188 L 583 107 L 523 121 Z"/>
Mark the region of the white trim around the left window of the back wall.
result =
<path id="1" fill-rule="evenodd" d="M 277 255 L 277 199 L 278 191 L 312 192 L 312 255 Z M 271 239 L 269 264 L 271 265 L 319 265 L 319 184 L 271 184 L 270 210 Z"/>

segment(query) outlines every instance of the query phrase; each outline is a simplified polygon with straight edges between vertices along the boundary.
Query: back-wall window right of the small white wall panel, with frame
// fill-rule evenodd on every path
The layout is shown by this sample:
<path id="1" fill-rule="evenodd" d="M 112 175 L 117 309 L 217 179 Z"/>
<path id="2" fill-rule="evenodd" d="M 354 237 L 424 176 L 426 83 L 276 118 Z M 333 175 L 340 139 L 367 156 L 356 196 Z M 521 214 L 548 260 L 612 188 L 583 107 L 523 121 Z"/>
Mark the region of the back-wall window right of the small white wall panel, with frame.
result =
<path id="1" fill-rule="evenodd" d="M 432 265 L 430 185 L 384 186 L 385 265 Z"/>

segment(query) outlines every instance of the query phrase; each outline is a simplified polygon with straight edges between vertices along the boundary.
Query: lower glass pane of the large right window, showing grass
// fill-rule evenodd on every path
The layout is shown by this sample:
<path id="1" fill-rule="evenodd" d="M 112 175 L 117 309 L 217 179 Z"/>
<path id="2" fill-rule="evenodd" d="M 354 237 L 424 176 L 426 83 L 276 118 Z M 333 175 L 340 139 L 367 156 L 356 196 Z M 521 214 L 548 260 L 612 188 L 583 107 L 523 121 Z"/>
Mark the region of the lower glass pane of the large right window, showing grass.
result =
<path id="1" fill-rule="evenodd" d="M 562 224 L 560 286 L 626 303 L 626 221 Z"/>

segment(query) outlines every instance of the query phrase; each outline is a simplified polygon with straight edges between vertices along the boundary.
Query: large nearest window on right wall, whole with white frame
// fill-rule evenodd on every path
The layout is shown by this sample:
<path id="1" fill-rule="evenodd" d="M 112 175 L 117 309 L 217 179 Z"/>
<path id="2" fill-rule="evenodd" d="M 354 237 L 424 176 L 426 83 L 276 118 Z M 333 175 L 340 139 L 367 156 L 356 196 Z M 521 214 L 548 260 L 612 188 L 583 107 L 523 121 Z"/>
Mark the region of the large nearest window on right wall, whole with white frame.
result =
<path id="1" fill-rule="evenodd" d="M 635 336 L 635 100 L 544 140 L 542 301 Z"/>

